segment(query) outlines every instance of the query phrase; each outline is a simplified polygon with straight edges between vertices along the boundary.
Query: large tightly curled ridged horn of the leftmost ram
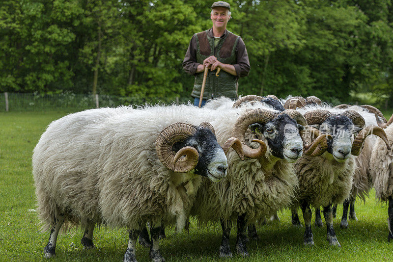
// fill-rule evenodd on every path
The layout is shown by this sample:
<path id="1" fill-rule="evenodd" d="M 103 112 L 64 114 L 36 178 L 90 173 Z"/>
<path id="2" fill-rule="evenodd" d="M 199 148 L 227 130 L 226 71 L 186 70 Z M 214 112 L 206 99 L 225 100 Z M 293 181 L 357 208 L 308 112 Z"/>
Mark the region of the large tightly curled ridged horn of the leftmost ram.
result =
<path id="1" fill-rule="evenodd" d="M 156 140 L 156 152 L 165 167 L 176 173 L 187 173 L 197 166 L 199 154 L 195 148 L 188 146 L 177 153 L 173 151 L 175 143 L 186 140 L 196 131 L 196 126 L 175 123 L 160 132 Z"/>

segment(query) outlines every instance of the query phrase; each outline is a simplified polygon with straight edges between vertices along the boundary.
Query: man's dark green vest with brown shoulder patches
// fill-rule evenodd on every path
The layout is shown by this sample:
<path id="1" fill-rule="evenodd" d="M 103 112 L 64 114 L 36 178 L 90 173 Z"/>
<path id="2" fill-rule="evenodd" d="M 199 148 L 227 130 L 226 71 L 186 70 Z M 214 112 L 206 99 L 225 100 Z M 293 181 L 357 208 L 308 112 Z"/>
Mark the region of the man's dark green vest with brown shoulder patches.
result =
<path id="1" fill-rule="evenodd" d="M 221 38 L 217 47 L 214 47 L 214 37 L 209 37 L 208 30 L 197 33 L 197 62 L 202 64 L 207 57 L 214 55 L 224 64 L 236 63 L 236 46 L 240 36 L 229 31 L 225 37 Z M 216 71 L 210 71 L 207 75 L 203 99 L 217 98 L 225 96 L 231 99 L 237 99 L 237 77 L 224 70 L 221 70 L 219 76 L 216 77 Z M 192 97 L 199 98 L 200 89 L 202 87 L 203 72 L 195 75 L 194 89 L 191 93 Z"/>

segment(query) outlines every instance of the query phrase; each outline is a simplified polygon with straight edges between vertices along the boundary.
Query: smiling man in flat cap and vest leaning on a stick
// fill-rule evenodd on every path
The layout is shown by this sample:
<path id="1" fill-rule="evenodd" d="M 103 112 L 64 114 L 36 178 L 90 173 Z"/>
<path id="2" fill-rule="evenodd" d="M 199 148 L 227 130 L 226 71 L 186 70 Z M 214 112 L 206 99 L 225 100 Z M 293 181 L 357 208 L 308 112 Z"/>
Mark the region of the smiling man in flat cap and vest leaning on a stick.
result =
<path id="1" fill-rule="evenodd" d="M 210 19 L 213 27 L 193 35 L 183 60 L 184 70 L 195 76 L 191 96 L 198 106 L 205 67 L 210 68 L 203 92 L 202 106 L 206 100 L 225 96 L 237 99 L 238 79 L 250 71 L 250 61 L 242 38 L 226 30 L 230 19 L 230 5 L 224 1 L 214 2 Z M 221 72 L 216 77 L 216 71 Z"/>

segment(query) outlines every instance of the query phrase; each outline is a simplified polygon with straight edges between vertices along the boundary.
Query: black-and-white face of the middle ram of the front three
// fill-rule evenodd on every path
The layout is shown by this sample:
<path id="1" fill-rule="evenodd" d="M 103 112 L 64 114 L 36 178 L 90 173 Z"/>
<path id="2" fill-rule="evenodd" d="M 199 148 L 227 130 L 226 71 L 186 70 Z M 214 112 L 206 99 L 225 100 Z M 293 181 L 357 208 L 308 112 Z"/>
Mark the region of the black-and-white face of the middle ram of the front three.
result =
<path id="1" fill-rule="evenodd" d="M 303 141 L 299 129 L 303 129 L 287 114 L 279 115 L 266 124 L 250 126 L 257 136 L 263 135 L 274 157 L 293 163 L 303 154 Z"/>

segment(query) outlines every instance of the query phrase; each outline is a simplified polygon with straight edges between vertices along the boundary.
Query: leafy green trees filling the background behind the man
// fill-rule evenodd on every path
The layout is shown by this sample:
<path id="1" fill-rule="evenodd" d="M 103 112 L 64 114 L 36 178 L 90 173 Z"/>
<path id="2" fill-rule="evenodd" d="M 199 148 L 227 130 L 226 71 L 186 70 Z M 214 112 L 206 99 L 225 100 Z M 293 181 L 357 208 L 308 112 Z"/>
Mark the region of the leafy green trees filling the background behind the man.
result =
<path id="1" fill-rule="evenodd" d="M 190 97 L 182 61 L 212 2 L 2 0 L 0 92 Z M 393 106 L 393 0 L 228 2 L 251 63 L 239 94 Z"/>

